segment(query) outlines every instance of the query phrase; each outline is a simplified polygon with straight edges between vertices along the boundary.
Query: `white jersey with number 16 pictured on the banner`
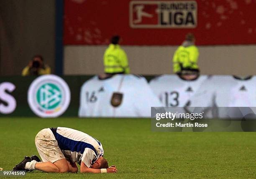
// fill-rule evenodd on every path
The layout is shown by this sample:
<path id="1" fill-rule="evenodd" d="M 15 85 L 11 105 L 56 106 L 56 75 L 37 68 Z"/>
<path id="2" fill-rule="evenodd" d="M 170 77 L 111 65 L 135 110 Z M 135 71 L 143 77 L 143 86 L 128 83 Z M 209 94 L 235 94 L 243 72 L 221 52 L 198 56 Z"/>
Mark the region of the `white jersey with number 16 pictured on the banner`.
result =
<path id="1" fill-rule="evenodd" d="M 116 107 L 112 105 L 115 94 L 120 100 Z M 144 77 L 118 74 L 101 80 L 94 76 L 81 88 L 79 117 L 151 117 L 151 107 L 160 106 Z"/>

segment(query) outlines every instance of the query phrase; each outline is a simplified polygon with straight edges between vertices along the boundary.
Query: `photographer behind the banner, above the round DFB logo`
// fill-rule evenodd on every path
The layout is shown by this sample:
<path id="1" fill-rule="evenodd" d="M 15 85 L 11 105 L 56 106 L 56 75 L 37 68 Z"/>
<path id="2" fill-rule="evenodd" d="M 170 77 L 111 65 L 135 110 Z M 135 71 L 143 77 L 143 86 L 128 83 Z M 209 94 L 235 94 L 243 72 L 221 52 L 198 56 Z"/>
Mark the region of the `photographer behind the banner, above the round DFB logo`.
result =
<path id="1" fill-rule="evenodd" d="M 44 64 L 44 59 L 41 55 L 35 55 L 22 71 L 22 76 L 39 76 L 50 74 L 51 68 Z"/>

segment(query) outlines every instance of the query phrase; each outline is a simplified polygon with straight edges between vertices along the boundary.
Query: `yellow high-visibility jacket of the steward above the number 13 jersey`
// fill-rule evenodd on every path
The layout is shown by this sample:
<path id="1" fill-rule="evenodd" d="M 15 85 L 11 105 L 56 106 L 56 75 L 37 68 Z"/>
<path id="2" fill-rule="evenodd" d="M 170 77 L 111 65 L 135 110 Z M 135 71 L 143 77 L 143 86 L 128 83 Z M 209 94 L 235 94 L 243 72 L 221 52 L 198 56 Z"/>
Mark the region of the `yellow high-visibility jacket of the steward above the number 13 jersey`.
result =
<path id="1" fill-rule="evenodd" d="M 173 56 L 174 73 L 181 71 L 182 68 L 198 69 L 198 57 L 199 51 L 195 45 L 189 45 L 187 47 L 179 46 Z"/>

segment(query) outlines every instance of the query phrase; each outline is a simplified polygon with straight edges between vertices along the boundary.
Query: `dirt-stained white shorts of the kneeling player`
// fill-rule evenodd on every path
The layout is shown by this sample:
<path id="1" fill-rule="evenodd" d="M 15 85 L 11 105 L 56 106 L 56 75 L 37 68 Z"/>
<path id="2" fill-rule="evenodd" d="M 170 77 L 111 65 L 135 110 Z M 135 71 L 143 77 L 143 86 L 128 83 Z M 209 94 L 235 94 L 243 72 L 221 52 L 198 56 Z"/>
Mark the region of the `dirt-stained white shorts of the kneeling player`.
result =
<path id="1" fill-rule="evenodd" d="M 54 163 L 57 160 L 65 159 L 51 129 L 47 128 L 39 131 L 35 143 L 36 149 L 44 162 Z"/>

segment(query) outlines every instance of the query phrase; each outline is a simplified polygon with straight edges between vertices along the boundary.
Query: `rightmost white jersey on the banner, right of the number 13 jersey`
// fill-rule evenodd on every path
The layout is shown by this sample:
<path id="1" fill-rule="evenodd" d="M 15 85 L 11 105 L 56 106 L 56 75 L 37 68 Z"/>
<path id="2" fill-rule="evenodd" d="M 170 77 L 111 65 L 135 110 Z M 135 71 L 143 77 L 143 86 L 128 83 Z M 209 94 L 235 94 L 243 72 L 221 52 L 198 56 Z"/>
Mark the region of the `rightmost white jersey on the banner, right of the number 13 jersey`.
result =
<path id="1" fill-rule="evenodd" d="M 207 87 L 208 90 L 196 93 L 191 99 L 191 104 L 192 106 L 216 106 L 218 107 L 217 117 L 219 118 L 225 118 L 228 115 L 227 111 L 230 108 L 224 107 L 256 107 L 255 76 L 248 79 L 238 79 L 233 76 L 212 76 L 210 80 L 205 81 L 203 86 Z"/>

